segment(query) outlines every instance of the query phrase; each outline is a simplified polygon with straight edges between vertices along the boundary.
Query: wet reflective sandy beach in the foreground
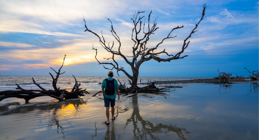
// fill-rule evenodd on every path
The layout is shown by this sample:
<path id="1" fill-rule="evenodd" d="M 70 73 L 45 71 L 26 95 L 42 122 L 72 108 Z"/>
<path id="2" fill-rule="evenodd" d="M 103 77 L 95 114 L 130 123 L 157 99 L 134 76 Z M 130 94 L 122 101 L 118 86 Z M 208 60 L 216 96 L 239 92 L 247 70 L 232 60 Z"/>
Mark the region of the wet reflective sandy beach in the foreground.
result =
<path id="1" fill-rule="evenodd" d="M 258 81 L 170 84 L 183 88 L 121 96 L 110 125 L 102 94 L 91 97 L 100 88 L 61 102 L 8 98 L 0 102 L 0 139 L 258 139 Z"/>

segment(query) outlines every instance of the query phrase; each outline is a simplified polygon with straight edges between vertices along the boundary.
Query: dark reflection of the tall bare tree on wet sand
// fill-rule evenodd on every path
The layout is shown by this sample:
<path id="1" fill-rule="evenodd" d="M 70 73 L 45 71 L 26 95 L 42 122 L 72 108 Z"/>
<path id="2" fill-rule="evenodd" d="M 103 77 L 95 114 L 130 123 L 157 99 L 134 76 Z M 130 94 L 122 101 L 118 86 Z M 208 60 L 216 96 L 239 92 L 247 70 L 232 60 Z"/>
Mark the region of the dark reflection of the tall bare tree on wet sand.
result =
<path id="1" fill-rule="evenodd" d="M 132 107 L 133 112 L 130 119 L 127 119 L 125 127 L 132 123 L 134 127 L 133 133 L 137 139 L 148 139 L 148 135 L 153 139 L 158 139 L 158 136 L 155 134 L 168 133 L 170 131 L 175 132 L 179 138 L 185 139 L 183 132 L 189 133 L 185 128 L 178 128 L 176 125 L 172 126 L 171 124 L 165 125 L 160 123 L 154 126 L 151 122 L 142 119 L 139 114 L 138 96 L 132 97 Z"/>

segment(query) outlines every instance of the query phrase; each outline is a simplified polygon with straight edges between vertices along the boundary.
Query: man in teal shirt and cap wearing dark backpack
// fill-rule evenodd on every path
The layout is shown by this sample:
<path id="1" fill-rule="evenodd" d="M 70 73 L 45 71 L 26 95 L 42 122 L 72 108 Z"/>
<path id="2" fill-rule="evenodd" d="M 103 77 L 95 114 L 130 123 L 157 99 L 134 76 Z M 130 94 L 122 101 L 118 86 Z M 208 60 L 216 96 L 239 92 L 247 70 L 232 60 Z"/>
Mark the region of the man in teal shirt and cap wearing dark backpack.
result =
<path id="1" fill-rule="evenodd" d="M 107 117 L 107 121 L 105 121 L 105 124 L 110 124 L 110 106 L 111 106 L 111 120 L 115 120 L 114 115 L 114 106 L 115 106 L 115 98 L 116 98 L 116 93 L 118 94 L 118 100 L 120 100 L 120 92 L 119 92 L 119 85 L 117 80 L 113 79 L 113 72 L 110 71 L 108 73 L 108 77 L 107 79 L 103 80 L 102 83 L 102 93 L 103 93 L 103 97 L 104 97 L 104 106 L 106 107 L 106 117 Z M 112 82 L 114 81 L 114 82 Z M 107 86 L 108 85 L 108 86 Z M 108 89 L 108 88 L 109 89 Z M 112 87 L 112 88 L 110 88 Z M 112 89 L 112 90 L 111 90 Z M 114 92 L 114 94 L 110 93 L 112 91 L 112 93 Z"/>

